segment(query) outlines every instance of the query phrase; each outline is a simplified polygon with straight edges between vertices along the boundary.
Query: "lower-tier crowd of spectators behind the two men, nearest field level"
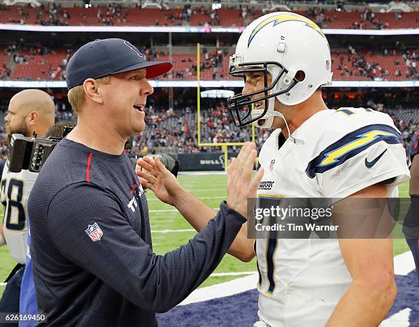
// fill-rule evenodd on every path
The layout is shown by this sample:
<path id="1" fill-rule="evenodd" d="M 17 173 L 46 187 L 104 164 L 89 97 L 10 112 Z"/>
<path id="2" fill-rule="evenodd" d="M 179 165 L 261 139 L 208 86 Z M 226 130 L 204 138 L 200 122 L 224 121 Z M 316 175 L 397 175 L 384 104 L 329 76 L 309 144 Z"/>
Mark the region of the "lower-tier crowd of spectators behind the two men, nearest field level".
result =
<path id="1" fill-rule="evenodd" d="M 374 92 L 372 92 L 374 94 Z M 405 148 L 410 141 L 411 135 L 419 129 L 418 116 L 412 116 L 403 120 L 395 114 L 397 110 L 408 112 L 408 105 L 396 101 L 396 94 L 385 94 L 382 96 L 370 96 L 370 99 L 335 99 L 333 96 L 327 96 L 325 102 L 331 109 L 338 109 L 344 106 L 344 103 L 351 103 L 353 107 L 370 107 L 379 112 L 389 114 L 394 120 L 394 124 L 401 131 L 405 142 Z M 212 99 L 201 110 L 201 142 L 202 143 L 221 143 L 221 142 L 246 142 L 251 140 L 252 131 L 250 126 L 238 128 L 231 122 L 231 117 L 227 109 L 226 101 L 214 101 Z M 407 99 L 409 100 L 409 99 Z M 207 101 L 207 100 L 205 100 Z M 407 102 L 408 103 L 408 102 Z M 405 106 L 405 107 L 403 107 Z M 407 107 L 406 107 L 407 106 Z M 218 152 L 221 147 L 200 146 L 198 147 L 197 116 L 196 103 L 193 101 L 184 101 L 177 99 L 175 109 L 167 109 L 167 105 L 162 105 L 160 101 L 150 99 L 146 108 L 147 129 L 143 133 L 134 135 L 133 147 L 130 153 L 132 155 L 147 155 L 153 153 L 201 153 Z M 392 109 L 388 109 L 392 108 Z M 5 108 L 2 108 L 5 109 Z M 396 111 L 393 111 L 395 109 Z M 416 113 L 418 108 L 411 112 Z M 4 116 L 5 112 L 0 112 Z M 68 107 L 64 99 L 55 99 L 55 117 L 57 121 L 68 120 L 77 122 L 77 116 Z M 255 142 L 260 150 L 262 144 L 271 133 L 270 129 L 255 129 Z M 7 144 L 5 142 L 6 131 L 2 124 L 0 125 L 0 155 L 6 157 Z M 238 152 L 240 147 L 231 146 L 229 151 Z"/>

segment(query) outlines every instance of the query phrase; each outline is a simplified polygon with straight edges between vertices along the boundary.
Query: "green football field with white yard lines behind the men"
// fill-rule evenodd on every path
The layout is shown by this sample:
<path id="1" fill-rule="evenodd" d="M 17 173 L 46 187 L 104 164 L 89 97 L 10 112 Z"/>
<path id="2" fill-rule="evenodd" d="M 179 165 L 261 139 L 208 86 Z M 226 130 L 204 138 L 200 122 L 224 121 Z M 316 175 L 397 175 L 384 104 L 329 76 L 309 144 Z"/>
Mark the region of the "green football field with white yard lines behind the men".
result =
<path id="1" fill-rule="evenodd" d="M 203 202 L 212 208 L 218 208 L 220 202 L 227 197 L 227 176 L 225 174 L 207 175 L 180 175 L 181 185 L 194 196 L 201 198 Z M 409 196 L 409 185 L 405 183 L 399 187 L 401 197 Z M 149 201 L 151 234 L 153 237 L 153 250 L 157 254 L 164 254 L 179 246 L 188 243 L 196 233 L 194 229 L 182 218 L 182 216 L 170 205 L 166 205 L 157 198 L 153 192 L 147 192 Z M 198 213 L 199 214 L 199 213 Z M 394 239 L 394 255 L 409 250 L 405 239 Z M 0 282 L 3 282 L 16 262 L 8 252 L 7 246 L 0 248 Z M 242 263 L 238 259 L 225 256 L 214 273 L 208 278 L 203 286 L 214 285 L 234 278 L 243 277 L 256 272 L 256 260 L 250 263 Z M 0 287 L 0 294 L 4 286 Z"/>

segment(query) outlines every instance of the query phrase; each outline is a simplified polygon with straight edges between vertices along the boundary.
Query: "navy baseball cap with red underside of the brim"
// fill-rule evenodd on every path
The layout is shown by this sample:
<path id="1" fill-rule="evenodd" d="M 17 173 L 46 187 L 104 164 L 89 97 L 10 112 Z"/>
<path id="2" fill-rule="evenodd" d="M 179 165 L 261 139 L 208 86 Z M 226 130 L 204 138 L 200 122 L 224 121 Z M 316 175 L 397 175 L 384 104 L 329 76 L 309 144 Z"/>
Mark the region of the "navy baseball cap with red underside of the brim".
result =
<path id="1" fill-rule="evenodd" d="M 99 79 L 140 68 L 146 68 L 146 78 L 152 79 L 172 67 L 170 62 L 147 62 L 140 50 L 126 40 L 105 38 L 88 42 L 75 52 L 67 64 L 66 83 L 70 90 L 88 78 Z"/>

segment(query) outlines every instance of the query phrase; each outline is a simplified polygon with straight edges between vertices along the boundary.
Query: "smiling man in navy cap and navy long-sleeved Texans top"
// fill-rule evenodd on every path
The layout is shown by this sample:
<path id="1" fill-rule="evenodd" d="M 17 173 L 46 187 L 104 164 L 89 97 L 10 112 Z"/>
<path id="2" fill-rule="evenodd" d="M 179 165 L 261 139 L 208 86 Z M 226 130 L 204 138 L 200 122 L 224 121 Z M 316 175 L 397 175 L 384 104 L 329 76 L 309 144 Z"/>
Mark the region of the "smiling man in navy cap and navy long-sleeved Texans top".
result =
<path id="1" fill-rule="evenodd" d="M 157 326 L 155 312 L 210 276 L 246 222 L 262 177 L 251 178 L 254 144 L 231 164 L 227 202 L 207 226 L 186 246 L 153 253 L 147 199 L 124 144 L 145 129 L 147 79 L 170 68 L 115 38 L 85 44 L 68 62 L 77 127 L 42 166 L 28 204 L 36 300 L 47 315 L 38 326 Z"/>

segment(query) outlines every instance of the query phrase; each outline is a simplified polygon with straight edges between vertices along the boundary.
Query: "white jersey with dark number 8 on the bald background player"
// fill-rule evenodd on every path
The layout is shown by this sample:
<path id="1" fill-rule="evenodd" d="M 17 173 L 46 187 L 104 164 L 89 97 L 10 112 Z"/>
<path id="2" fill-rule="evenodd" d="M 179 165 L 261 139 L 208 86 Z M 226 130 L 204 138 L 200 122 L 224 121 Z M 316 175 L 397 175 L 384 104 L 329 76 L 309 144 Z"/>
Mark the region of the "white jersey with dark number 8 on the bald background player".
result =
<path id="1" fill-rule="evenodd" d="M 10 254 L 19 263 L 26 262 L 27 200 L 34 186 L 36 172 L 10 172 L 7 163 L 1 176 L 0 200 L 4 205 L 3 233 Z"/>

